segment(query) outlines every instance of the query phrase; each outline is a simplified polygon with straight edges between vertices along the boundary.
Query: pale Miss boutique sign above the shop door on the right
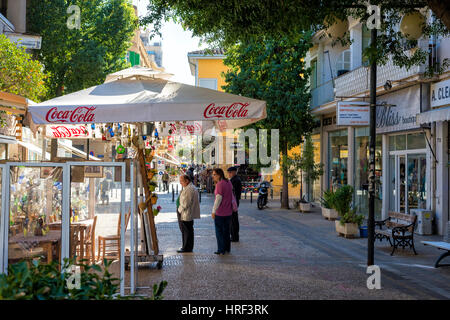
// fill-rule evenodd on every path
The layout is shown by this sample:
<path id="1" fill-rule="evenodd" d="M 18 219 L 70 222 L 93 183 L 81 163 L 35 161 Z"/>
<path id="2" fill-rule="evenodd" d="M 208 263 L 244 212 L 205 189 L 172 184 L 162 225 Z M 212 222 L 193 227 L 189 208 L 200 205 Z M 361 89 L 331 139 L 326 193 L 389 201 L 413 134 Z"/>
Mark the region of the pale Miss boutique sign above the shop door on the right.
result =
<path id="1" fill-rule="evenodd" d="M 420 93 L 418 87 L 399 90 L 378 98 L 378 103 L 386 101 L 390 107 L 377 107 L 377 133 L 416 129 L 417 114 L 420 113 Z"/>

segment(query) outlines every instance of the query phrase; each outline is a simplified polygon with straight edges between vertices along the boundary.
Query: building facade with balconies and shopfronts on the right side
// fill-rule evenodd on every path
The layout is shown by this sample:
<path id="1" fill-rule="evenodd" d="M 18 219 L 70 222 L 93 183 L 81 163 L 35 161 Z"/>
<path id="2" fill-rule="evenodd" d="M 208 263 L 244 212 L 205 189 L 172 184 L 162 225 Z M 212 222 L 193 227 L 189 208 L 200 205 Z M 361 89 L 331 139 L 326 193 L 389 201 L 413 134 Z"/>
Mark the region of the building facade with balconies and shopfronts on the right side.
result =
<path id="1" fill-rule="evenodd" d="M 349 32 L 352 43 L 346 47 L 333 46 L 324 31 L 314 35 L 307 62 L 312 69 L 311 110 L 320 126 L 313 137 L 320 141 L 318 152 L 324 163 L 320 189 L 352 185 L 354 204 L 367 215 L 368 122 L 342 124 L 339 117 L 344 111 L 338 106 L 354 104 L 361 112 L 367 108 L 370 70 L 363 50 L 370 45 L 370 30 L 349 18 Z M 430 61 L 442 62 L 450 56 L 448 38 L 421 38 L 418 46 L 429 50 Z M 375 212 L 381 219 L 389 211 L 411 214 L 417 209 L 430 210 L 436 217 L 435 231 L 442 234 L 449 221 L 450 112 L 444 109 L 450 104 L 450 92 L 445 91 L 450 71 L 430 79 L 424 75 L 427 67 L 425 64 L 407 70 L 388 60 L 377 68 Z M 437 85 L 441 81 L 444 83 Z M 442 99 L 433 105 L 433 95 L 438 91 Z M 430 112 L 441 113 L 436 119 L 436 113 L 430 116 Z"/>

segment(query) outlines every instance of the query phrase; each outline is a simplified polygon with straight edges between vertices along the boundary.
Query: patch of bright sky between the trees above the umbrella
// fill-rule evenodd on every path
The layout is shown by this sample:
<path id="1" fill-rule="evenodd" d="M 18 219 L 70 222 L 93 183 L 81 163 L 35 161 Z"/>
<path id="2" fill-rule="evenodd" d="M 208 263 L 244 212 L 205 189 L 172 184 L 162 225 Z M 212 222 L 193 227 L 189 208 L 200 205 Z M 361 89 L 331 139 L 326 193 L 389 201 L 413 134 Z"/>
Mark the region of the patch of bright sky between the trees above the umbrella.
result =
<path id="1" fill-rule="evenodd" d="M 137 6 L 139 16 L 145 15 L 148 0 L 133 0 L 133 4 Z M 158 40 L 160 39 L 152 39 L 152 41 Z M 206 45 L 199 43 L 200 39 L 192 37 L 192 33 L 184 31 L 181 25 L 173 22 L 164 23 L 162 28 L 163 67 L 167 72 L 174 74 L 171 80 L 194 85 L 195 79 L 189 69 L 187 53 L 206 48 Z"/>

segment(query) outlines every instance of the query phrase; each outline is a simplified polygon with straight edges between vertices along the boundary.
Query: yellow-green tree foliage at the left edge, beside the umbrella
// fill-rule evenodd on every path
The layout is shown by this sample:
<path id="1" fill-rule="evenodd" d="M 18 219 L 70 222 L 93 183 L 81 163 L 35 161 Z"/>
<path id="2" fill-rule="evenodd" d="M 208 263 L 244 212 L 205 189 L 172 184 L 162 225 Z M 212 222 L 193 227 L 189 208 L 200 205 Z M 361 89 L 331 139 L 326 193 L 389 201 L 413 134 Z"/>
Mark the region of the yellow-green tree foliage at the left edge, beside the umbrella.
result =
<path id="1" fill-rule="evenodd" d="M 0 91 L 39 102 L 46 93 L 44 79 L 42 64 L 0 34 Z"/>

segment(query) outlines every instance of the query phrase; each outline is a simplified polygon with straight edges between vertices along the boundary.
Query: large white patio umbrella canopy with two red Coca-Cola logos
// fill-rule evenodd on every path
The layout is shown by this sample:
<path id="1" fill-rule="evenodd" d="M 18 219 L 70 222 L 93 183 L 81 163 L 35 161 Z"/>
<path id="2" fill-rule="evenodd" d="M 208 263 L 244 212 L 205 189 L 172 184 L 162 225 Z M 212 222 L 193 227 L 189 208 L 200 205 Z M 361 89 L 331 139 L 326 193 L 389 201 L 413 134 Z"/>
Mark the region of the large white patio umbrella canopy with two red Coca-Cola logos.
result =
<path id="1" fill-rule="evenodd" d="M 36 124 L 202 121 L 235 129 L 266 117 L 266 102 L 165 79 L 119 79 L 29 107 Z"/>

